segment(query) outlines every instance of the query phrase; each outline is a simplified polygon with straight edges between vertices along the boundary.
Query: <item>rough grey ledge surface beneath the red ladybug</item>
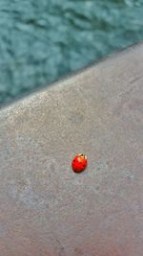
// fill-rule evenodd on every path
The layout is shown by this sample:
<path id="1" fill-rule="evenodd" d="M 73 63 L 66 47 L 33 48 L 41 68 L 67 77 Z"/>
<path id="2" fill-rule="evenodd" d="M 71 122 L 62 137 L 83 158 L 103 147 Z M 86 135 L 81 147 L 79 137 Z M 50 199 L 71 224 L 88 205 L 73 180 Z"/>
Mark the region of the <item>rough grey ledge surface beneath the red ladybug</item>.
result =
<path id="1" fill-rule="evenodd" d="M 143 255 L 143 45 L 1 110 L 0 256 L 31 255 Z"/>

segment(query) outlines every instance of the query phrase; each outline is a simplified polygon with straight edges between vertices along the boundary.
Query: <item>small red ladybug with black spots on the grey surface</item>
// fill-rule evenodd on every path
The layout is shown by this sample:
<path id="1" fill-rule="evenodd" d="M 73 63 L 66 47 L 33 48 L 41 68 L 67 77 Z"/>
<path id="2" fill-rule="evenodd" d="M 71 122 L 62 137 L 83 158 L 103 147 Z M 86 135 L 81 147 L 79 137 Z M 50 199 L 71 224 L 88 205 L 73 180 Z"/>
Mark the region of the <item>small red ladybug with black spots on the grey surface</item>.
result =
<path id="1" fill-rule="evenodd" d="M 75 173 L 83 172 L 88 165 L 87 156 L 84 153 L 75 155 L 72 160 L 72 170 Z"/>

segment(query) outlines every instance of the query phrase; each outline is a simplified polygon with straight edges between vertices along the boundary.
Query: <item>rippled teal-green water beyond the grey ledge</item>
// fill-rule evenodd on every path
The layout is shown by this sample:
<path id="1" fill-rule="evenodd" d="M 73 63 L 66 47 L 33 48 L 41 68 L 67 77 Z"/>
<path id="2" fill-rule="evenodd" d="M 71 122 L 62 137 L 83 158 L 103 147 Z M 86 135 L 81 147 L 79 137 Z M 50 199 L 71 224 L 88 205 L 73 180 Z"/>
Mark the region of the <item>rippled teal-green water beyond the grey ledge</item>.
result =
<path id="1" fill-rule="evenodd" d="M 143 39 L 143 0 L 1 0 L 0 104 Z"/>

